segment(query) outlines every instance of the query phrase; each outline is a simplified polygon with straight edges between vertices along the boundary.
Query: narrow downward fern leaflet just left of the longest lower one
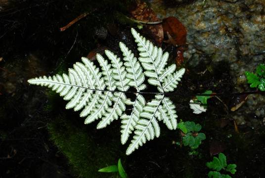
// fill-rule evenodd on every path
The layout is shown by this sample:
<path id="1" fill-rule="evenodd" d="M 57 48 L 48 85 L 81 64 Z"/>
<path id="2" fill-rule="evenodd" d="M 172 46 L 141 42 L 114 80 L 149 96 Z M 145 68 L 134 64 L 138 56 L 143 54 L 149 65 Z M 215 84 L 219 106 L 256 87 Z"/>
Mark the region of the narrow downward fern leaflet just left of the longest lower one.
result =
<path id="1" fill-rule="evenodd" d="M 140 113 L 142 112 L 143 106 L 145 105 L 145 99 L 141 94 L 136 94 L 136 99 L 134 102 L 127 100 L 125 102 L 128 105 L 133 105 L 133 110 L 131 115 L 124 114 L 122 115 L 122 130 L 121 130 L 121 142 L 125 144 L 128 140 L 130 134 L 132 134 L 135 125 L 137 124 Z"/>

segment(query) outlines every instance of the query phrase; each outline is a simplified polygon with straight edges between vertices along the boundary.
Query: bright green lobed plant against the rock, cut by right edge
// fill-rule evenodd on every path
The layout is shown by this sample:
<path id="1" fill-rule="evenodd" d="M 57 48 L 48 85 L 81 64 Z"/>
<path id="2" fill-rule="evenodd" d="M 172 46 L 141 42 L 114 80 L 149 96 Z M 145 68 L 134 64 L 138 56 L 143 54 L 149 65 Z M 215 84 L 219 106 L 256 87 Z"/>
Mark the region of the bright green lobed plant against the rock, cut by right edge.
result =
<path id="1" fill-rule="evenodd" d="M 265 91 L 265 65 L 260 64 L 257 69 L 256 73 L 246 71 L 245 75 L 247 77 L 248 83 L 250 84 L 251 88 L 257 88 L 261 91 Z"/>

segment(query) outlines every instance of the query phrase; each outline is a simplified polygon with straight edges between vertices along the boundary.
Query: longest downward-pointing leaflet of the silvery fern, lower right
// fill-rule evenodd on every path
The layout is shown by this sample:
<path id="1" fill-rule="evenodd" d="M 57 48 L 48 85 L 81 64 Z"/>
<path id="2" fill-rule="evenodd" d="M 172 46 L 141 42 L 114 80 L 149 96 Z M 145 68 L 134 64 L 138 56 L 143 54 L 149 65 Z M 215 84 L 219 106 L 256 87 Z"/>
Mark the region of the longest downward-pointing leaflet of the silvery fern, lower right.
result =
<path id="1" fill-rule="evenodd" d="M 132 143 L 129 145 L 126 154 L 131 154 L 139 146 L 142 146 L 146 140 L 159 137 L 160 127 L 156 120 L 158 116 L 158 107 L 160 106 L 164 96 L 156 95 L 156 99 L 151 100 L 143 107 L 143 112 L 140 113 L 140 119 L 135 126 Z"/>

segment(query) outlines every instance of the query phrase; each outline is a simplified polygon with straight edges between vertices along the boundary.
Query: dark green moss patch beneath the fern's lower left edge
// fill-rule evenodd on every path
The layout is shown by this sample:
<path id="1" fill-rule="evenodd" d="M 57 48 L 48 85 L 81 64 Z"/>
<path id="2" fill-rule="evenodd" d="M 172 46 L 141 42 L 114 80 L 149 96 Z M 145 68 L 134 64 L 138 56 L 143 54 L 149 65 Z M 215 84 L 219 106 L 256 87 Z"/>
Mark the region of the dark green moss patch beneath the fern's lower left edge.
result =
<path id="1" fill-rule="evenodd" d="M 74 173 L 81 178 L 109 178 L 111 175 L 98 173 L 97 170 L 114 164 L 118 158 L 125 156 L 122 150 L 120 151 L 119 140 L 112 140 L 111 134 L 106 135 L 106 131 L 102 130 L 93 130 L 93 133 L 89 134 L 86 127 L 74 126 L 65 116 L 58 117 L 48 124 L 48 131 L 51 140 L 68 158 Z M 95 137 L 94 132 L 102 135 Z"/>

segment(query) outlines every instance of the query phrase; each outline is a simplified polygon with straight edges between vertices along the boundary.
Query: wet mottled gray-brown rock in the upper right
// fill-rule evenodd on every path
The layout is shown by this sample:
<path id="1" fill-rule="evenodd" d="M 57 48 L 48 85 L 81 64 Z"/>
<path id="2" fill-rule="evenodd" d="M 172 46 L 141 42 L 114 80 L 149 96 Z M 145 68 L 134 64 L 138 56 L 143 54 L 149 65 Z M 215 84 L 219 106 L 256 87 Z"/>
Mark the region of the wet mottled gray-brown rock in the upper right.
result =
<path id="1" fill-rule="evenodd" d="M 175 16 L 187 29 L 188 50 L 183 54 L 191 67 L 208 56 L 212 64 L 227 61 L 235 91 L 250 90 L 245 71 L 265 62 L 265 0 L 195 0 L 165 7 L 152 0 L 152 8 L 165 18 Z M 244 114 L 265 116 L 265 97 L 251 95 L 233 118 L 244 125 Z M 241 113 L 242 115 L 239 115 Z"/>

